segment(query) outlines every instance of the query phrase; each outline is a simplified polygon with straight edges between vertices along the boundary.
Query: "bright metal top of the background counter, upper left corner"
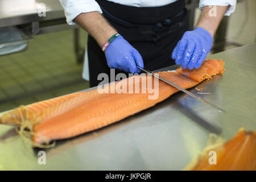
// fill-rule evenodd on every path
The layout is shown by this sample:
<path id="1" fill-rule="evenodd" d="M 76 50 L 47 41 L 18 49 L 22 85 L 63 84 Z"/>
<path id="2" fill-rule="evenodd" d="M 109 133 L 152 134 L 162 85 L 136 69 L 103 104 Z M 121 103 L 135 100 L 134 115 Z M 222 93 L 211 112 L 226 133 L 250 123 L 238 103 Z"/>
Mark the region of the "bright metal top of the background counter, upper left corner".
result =
<path id="1" fill-rule="evenodd" d="M 46 16 L 38 12 L 46 5 Z M 59 0 L 0 0 L 0 27 L 64 18 Z"/>

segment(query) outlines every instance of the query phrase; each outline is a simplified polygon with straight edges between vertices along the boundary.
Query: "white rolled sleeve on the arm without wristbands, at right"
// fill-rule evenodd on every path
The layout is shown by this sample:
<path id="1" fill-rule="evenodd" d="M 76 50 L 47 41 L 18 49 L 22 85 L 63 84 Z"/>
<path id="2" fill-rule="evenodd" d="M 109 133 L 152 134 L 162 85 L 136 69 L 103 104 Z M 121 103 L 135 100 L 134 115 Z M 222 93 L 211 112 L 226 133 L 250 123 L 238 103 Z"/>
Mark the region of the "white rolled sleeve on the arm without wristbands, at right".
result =
<path id="1" fill-rule="evenodd" d="M 200 0 L 199 8 L 202 9 L 204 6 L 230 6 L 228 10 L 226 10 L 225 16 L 229 16 L 236 9 L 237 0 Z"/>

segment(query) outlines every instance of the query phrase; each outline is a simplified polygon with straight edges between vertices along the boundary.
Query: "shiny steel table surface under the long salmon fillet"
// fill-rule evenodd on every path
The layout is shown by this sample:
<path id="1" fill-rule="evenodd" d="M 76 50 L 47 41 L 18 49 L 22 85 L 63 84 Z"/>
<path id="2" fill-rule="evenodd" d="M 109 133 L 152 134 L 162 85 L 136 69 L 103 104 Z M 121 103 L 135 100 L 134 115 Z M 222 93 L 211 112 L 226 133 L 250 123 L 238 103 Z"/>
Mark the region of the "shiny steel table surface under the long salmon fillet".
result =
<path id="1" fill-rule="evenodd" d="M 219 113 L 184 93 L 79 137 L 57 141 L 38 164 L 38 149 L 22 142 L 11 126 L 0 126 L 0 169 L 183 169 L 205 147 L 210 133 L 230 139 L 240 127 L 256 130 L 256 44 L 210 55 L 225 61 L 224 76 L 191 92 L 221 106 Z"/>

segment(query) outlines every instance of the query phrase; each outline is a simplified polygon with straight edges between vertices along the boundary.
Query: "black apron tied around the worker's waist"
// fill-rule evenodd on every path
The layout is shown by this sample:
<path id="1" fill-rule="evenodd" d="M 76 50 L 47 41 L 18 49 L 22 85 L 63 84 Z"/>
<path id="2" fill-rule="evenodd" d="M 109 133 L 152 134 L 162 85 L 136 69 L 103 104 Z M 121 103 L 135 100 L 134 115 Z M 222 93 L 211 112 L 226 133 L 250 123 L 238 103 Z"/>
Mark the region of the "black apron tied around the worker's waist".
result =
<path id="1" fill-rule="evenodd" d="M 97 2 L 108 22 L 141 53 L 144 68 L 154 71 L 175 64 L 171 59 L 172 51 L 189 28 L 184 0 L 160 7 L 132 7 L 109 1 Z M 90 35 L 88 60 L 91 87 L 101 82 L 97 80 L 100 73 L 106 73 L 110 78 L 105 54 Z M 118 73 L 126 72 L 115 69 L 115 75 Z"/>

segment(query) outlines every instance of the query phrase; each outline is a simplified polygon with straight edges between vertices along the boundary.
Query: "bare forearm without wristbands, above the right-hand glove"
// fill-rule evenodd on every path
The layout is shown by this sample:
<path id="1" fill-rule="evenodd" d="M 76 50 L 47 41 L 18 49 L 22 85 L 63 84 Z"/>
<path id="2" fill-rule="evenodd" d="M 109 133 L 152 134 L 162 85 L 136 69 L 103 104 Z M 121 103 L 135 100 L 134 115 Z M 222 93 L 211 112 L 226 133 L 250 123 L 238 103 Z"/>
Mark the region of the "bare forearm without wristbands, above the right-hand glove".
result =
<path id="1" fill-rule="evenodd" d="M 205 6 L 196 27 L 204 28 L 213 37 L 228 7 L 229 6 Z"/>

